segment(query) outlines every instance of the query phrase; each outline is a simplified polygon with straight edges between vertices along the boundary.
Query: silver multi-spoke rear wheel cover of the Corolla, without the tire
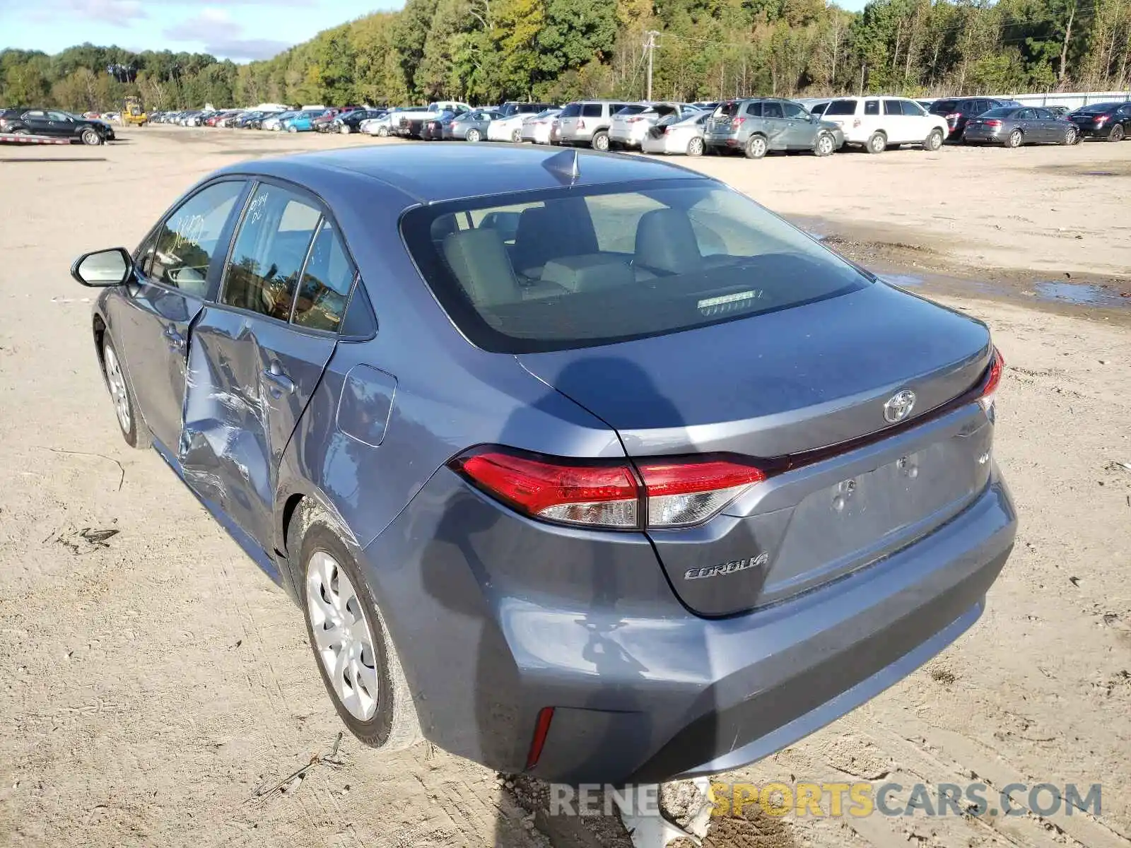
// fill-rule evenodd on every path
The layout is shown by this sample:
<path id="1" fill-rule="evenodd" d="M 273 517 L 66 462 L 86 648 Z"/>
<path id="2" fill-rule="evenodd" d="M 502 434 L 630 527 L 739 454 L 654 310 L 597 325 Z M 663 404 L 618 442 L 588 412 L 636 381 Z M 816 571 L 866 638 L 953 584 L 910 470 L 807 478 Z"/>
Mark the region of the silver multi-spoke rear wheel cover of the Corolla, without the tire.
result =
<path id="1" fill-rule="evenodd" d="M 325 551 L 307 563 L 307 614 L 334 694 L 351 716 L 368 721 L 379 694 L 373 632 L 345 569 Z"/>

